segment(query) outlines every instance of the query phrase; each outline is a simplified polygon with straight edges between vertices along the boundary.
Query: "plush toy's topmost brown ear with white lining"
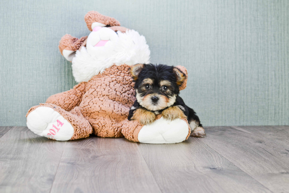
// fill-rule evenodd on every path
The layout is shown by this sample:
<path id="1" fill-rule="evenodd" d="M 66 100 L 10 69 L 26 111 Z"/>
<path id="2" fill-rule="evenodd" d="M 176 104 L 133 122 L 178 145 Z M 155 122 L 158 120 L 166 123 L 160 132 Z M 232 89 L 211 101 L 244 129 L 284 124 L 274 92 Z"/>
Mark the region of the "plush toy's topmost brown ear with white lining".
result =
<path id="1" fill-rule="evenodd" d="M 109 26 L 120 26 L 119 21 L 114 19 L 113 17 L 108 17 L 102 15 L 96 11 L 90 11 L 84 16 L 84 21 L 90 31 L 93 30 L 94 27 L 105 27 Z"/>

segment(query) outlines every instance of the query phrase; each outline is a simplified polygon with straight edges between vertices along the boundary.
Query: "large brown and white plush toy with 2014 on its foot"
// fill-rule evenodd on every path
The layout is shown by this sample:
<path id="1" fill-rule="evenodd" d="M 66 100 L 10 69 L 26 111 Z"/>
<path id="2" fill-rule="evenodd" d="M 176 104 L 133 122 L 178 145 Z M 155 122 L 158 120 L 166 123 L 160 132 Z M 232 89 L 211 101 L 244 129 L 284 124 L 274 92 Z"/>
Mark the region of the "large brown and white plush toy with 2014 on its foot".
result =
<path id="1" fill-rule="evenodd" d="M 169 121 L 158 115 L 150 125 L 127 119 L 135 100 L 129 67 L 150 62 L 144 36 L 95 11 L 88 12 L 84 19 L 91 33 L 79 39 L 65 35 L 59 44 L 61 54 L 72 61 L 73 76 L 80 83 L 30 108 L 26 115 L 28 128 L 60 141 L 90 134 L 142 143 L 186 140 L 191 133 L 186 119 Z M 187 75 L 185 67 L 178 68 Z M 180 90 L 185 87 L 186 81 Z"/>

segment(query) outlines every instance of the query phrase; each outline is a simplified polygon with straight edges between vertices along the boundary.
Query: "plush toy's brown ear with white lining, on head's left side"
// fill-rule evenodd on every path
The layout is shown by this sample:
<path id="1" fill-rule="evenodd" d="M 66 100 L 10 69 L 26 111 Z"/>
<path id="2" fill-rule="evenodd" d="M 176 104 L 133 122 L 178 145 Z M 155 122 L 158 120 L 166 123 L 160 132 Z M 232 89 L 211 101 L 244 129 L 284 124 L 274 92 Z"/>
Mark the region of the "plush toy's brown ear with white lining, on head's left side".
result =
<path id="1" fill-rule="evenodd" d="M 87 36 L 75 38 L 69 34 L 64 35 L 59 41 L 59 51 L 68 61 L 72 61 L 76 50 L 86 45 Z"/>

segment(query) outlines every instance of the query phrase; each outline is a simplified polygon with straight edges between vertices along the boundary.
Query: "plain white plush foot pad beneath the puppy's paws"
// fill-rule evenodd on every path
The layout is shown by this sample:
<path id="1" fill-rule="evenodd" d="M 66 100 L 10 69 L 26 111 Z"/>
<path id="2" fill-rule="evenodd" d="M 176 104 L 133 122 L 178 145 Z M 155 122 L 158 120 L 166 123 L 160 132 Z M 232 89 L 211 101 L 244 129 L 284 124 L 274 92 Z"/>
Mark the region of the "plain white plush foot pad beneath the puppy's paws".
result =
<path id="1" fill-rule="evenodd" d="M 182 119 L 174 121 L 162 117 L 139 131 L 137 139 L 141 143 L 180 143 L 188 136 L 188 124 Z"/>

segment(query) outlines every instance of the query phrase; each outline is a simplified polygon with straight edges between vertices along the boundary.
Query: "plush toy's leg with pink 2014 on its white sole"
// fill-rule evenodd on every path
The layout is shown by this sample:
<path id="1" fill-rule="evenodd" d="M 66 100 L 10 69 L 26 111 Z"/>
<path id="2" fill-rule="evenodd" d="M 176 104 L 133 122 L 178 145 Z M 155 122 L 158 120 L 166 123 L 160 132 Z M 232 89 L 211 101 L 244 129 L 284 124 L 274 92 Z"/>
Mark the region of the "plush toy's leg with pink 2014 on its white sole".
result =
<path id="1" fill-rule="evenodd" d="M 27 127 L 37 135 L 58 141 L 88 137 L 92 127 L 78 107 L 70 112 L 51 103 L 30 108 L 27 113 Z"/>

